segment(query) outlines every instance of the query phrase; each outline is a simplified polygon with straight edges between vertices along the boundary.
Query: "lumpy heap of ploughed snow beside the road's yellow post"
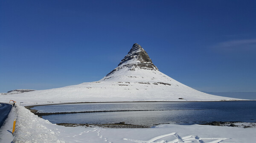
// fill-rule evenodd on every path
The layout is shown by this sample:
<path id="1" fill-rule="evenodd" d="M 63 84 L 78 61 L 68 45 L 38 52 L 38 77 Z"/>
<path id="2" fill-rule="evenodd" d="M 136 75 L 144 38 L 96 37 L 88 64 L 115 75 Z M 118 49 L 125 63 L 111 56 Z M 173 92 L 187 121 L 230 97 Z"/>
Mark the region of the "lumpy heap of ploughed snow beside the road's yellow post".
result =
<path id="1" fill-rule="evenodd" d="M 19 105 L 15 108 L 15 112 L 17 114 L 13 140 L 15 143 L 64 143 L 57 139 L 55 130 L 47 128 L 54 126 L 48 120 L 38 118 L 28 109 Z"/>

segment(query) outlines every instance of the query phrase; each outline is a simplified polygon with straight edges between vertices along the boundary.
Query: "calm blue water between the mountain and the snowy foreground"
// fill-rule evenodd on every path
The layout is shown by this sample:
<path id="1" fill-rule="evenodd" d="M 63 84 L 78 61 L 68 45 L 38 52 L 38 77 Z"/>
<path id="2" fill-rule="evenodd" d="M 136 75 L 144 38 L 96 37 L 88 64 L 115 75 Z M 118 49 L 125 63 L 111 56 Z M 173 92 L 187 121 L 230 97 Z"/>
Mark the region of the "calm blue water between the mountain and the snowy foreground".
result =
<path id="1" fill-rule="evenodd" d="M 52 123 L 119 123 L 156 125 L 160 123 L 194 124 L 211 121 L 256 122 L 256 101 L 230 102 L 134 102 L 38 106 L 39 112 L 81 112 L 104 110 L 161 110 L 94 112 L 47 115 Z"/>

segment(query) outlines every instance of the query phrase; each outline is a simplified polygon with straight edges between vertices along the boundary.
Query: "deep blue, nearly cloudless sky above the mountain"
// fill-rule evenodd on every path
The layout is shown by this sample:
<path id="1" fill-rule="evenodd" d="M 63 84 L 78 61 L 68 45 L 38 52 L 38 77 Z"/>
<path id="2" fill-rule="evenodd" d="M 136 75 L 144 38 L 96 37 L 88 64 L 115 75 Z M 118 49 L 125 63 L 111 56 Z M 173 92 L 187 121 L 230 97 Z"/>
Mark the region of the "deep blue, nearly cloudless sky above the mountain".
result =
<path id="1" fill-rule="evenodd" d="M 134 43 L 204 92 L 256 92 L 256 0 L 1 0 L 0 93 L 98 81 Z"/>

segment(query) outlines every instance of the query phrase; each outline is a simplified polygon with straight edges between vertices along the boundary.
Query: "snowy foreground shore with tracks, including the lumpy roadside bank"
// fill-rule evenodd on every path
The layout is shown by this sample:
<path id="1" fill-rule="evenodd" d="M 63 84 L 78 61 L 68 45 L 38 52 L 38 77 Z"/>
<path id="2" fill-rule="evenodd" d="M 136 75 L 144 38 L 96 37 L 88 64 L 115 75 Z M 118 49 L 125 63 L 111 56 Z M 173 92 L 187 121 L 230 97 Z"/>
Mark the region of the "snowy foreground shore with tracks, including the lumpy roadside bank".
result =
<path id="1" fill-rule="evenodd" d="M 256 128 L 209 125 L 163 124 L 147 129 L 65 127 L 38 118 L 17 106 L 10 115 L 17 118 L 14 143 L 255 143 Z M 10 121 L 11 119 L 8 118 Z M 13 120 L 12 120 L 13 121 Z M 1 128 L 0 142 L 12 141 L 12 124 Z M 5 142 L 7 141 L 7 142 Z"/>

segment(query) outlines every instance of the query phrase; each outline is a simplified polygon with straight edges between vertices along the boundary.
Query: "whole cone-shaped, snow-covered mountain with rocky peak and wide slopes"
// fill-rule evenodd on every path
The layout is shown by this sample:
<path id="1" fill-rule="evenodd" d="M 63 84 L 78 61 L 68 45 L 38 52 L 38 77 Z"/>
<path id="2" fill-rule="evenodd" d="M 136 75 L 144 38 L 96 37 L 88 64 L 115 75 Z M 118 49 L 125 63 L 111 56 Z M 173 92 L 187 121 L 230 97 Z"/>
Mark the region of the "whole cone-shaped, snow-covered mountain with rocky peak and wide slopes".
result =
<path id="1" fill-rule="evenodd" d="M 99 81 L 0 97 L 0 101 L 21 102 L 240 100 L 202 93 L 170 78 L 158 70 L 137 43 L 118 66 Z"/>

